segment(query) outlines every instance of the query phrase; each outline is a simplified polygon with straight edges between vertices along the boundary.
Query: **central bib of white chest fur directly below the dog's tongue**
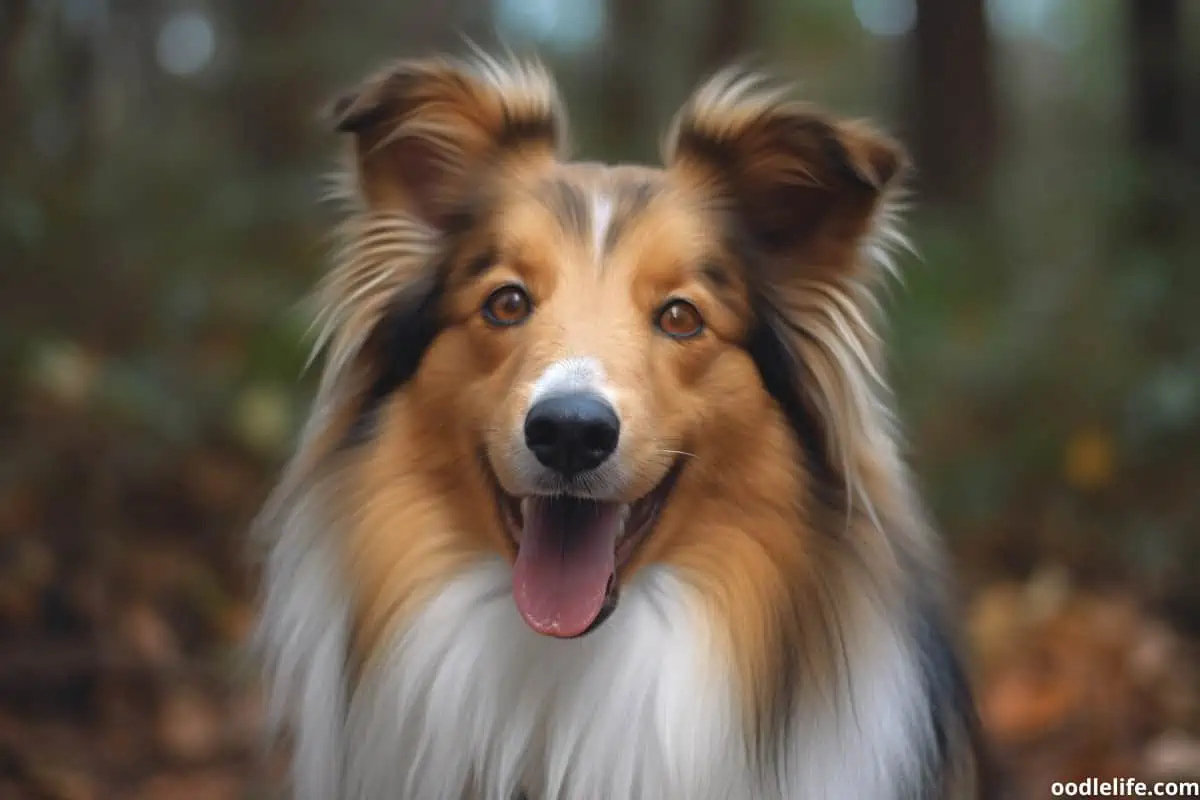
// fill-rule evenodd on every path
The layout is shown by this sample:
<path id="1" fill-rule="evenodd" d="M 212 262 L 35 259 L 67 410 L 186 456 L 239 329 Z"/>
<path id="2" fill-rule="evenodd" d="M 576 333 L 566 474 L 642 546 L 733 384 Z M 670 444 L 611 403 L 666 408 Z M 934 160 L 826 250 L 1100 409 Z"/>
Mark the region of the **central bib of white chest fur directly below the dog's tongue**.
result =
<path id="1" fill-rule="evenodd" d="M 574 640 L 522 622 L 511 572 L 443 590 L 350 704 L 355 798 L 726 798 L 745 777 L 727 670 L 665 571 Z"/>

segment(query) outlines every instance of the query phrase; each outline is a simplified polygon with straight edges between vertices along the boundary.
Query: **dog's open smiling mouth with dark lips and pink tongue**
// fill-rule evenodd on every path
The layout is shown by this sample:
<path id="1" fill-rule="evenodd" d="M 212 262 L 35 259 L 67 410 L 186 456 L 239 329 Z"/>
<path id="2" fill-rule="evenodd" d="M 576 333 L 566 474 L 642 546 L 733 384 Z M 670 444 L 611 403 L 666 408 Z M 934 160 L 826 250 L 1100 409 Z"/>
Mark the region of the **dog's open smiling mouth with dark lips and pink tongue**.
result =
<path id="1" fill-rule="evenodd" d="M 538 633 L 574 638 L 617 608 L 617 576 L 654 529 L 679 463 L 632 504 L 570 494 L 515 498 L 496 483 L 500 516 L 517 547 L 512 599 Z"/>

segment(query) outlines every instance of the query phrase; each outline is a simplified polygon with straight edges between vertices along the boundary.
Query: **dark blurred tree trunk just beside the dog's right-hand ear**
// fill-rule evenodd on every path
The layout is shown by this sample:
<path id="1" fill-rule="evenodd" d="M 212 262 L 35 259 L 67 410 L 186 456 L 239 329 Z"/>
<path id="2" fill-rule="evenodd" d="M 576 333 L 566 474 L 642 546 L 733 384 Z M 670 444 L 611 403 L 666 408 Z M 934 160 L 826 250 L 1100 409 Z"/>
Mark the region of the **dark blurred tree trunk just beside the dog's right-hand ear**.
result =
<path id="1" fill-rule="evenodd" d="M 913 139 L 934 203 L 979 204 L 997 145 L 996 86 L 983 0 L 917 0 Z"/>

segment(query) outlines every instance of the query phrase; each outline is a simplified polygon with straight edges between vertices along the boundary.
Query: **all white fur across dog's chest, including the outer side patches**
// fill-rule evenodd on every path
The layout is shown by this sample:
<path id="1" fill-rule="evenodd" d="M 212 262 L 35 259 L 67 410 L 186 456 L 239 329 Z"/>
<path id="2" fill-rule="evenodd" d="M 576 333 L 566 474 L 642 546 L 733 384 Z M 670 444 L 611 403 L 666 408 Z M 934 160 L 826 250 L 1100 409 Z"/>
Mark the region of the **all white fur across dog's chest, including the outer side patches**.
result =
<path id="1" fill-rule="evenodd" d="M 517 788 L 530 800 L 887 800 L 919 769 L 924 694 L 882 613 L 860 649 L 846 642 L 846 703 L 796 720 L 766 786 L 685 584 L 646 570 L 604 626 L 564 642 L 521 621 L 510 575 L 485 563 L 433 597 L 347 698 L 344 727 L 319 693 L 328 650 L 298 667 L 298 798 L 337 786 L 346 800 L 511 800 Z"/>

